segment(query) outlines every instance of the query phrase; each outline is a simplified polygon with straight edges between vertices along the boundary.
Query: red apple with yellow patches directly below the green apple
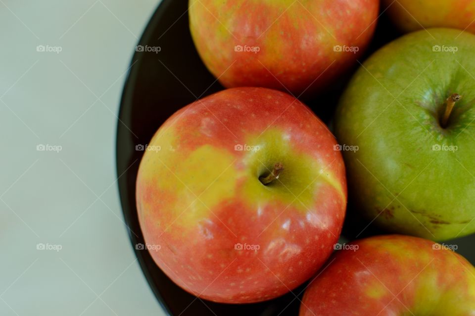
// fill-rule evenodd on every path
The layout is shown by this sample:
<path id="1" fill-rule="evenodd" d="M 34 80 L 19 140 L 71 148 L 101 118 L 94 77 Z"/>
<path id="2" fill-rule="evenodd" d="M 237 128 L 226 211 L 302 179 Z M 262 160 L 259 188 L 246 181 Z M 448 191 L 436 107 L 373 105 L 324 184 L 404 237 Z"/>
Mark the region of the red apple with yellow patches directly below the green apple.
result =
<path id="1" fill-rule="evenodd" d="M 454 245 L 384 235 L 347 246 L 312 280 L 300 316 L 475 315 L 475 267 Z"/>

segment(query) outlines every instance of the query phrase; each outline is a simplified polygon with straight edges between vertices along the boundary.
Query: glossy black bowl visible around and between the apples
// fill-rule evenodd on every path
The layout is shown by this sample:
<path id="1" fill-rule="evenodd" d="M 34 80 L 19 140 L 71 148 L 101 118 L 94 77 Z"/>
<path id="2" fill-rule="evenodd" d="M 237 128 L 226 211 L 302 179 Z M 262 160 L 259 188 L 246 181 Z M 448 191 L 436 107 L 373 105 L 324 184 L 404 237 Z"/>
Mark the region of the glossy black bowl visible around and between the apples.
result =
<path id="1" fill-rule="evenodd" d="M 187 0 L 161 2 L 139 43 L 143 47 L 160 47 L 161 51 L 154 53 L 144 50 L 134 54 L 123 91 L 117 126 L 117 175 L 122 209 L 132 246 L 153 293 L 169 315 L 298 315 L 299 299 L 305 284 L 268 302 L 218 304 L 197 299 L 185 292 L 158 268 L 147 251 L 135 249 L 135 245 L 144 243 L 135 203 L 135 181 L 143 152 L 137 151 L 136 145 L 147 144 L 160 125 L 179 108 L 223 89 L 208 72 L 194 48 L 188 27 L 187 9 Z M 399 35 L 383 14 L 364 57 Z M 363 60 L 364 58 L 361 58 L 361 61 Z M 326 94 L 306 101 L 325 122 L 330 123 L 338 97 L 356 68 L 357 65 L 341 76 L 339 82 Z M 343 238 L 354 239 L 366 225 L 367 222 L 352 216 L 349 209 Z M 370 225 L 358 238 L 379 233 L 382 232 Z M 475 237 L 472 236 L 450 243 L 457 244 L 458 252 L 474 263 L 475 251 L 471 247 L 474 241 Z"/>

